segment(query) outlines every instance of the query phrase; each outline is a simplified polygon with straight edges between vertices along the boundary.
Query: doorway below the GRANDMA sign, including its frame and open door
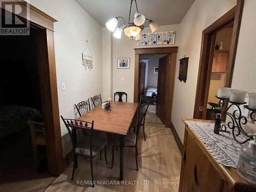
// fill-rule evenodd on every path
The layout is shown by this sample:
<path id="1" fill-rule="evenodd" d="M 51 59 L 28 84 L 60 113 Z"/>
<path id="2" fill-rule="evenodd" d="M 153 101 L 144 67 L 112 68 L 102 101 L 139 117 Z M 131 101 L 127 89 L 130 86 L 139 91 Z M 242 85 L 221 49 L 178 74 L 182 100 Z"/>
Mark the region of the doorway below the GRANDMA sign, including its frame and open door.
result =
<path id="1" fill-rule="evenodd" d="M 170 127 L 177 47 L 135 49 L 134 102 L 150 98 L 149 111 Z"/>

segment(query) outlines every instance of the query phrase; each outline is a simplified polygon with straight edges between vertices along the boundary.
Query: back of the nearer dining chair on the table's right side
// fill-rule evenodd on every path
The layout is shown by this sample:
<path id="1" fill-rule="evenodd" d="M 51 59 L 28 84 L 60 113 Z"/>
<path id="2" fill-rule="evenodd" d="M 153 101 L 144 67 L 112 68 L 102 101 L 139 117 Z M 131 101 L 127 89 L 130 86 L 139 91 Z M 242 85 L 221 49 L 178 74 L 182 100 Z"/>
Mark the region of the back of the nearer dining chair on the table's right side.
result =
<path id="1" fill-rule="evenodd" d="M 140 125 L 141 125 L 143 119 L 146 116 L 146 112 L 147 112 L 148 106 L 150 106 L 150 102 L 151 102 L 150 99 L 148 99 L 144 95 L 140 96 L 140 104 L 139 104 L 139 111 L 138 111 L 139 114 L 138 114 L 138 122 L 137 122 L 138 124 L 137 124 L 136 135 L 139 134 Z"/>

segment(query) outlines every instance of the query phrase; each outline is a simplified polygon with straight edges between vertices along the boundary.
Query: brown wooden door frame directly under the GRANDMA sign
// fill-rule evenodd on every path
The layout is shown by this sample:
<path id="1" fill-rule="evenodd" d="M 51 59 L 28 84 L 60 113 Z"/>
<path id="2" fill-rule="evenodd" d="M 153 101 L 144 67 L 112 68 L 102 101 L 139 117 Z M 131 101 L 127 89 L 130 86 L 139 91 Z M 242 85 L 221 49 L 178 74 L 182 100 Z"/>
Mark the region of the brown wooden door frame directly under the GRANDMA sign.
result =
<path id="1" fill-rule="evenodd" d="M 178 46 L 168 47 L 153 47 L 153 48 L 137 48 L 135 50 L 135 72 L 134 72 L 134 103 L 139 103 L 139 60 L 140 55 L 155 55 L 155 54 L 170 54 L 168 67 L 168 82 L 167 82 L 167 105 L 165 114 L 165 127 L 170 127 L 172 117 L 173 95 L 174 95 L 174 81 L 175 70 L 177 62 Z"/>

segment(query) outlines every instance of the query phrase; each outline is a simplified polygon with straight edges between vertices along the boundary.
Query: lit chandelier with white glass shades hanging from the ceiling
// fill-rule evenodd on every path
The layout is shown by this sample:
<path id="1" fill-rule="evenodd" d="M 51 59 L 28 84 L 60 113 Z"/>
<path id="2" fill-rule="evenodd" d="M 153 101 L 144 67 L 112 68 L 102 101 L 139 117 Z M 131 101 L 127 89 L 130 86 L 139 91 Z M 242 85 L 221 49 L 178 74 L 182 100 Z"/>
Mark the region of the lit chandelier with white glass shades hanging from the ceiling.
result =
<path id="1" fill-rule="evenodd" d="M 132 4 L 135 2 L 136 5 L 136 13 L 134 15 L 134 22 L 130 22 L 131 18 L 131 10 L 132 10 Z M 117 28 L 118 19 L 121 18 L 123 20 L 123 25 Z M 132 40 L 135 37 L 135 40 L 142 39 L 141 31 L 144 29 L 144 23 L 148 20 L 148 24 L 150 25 L 150 29 L 153 32 L 155 32 L 159 25 L 152 19 L 146 18 L 141 12 L 138 11 L 138 6 L 136 0 L 131 0 L 130 5 L 130 13 L 129 13 L 129 19 L 127 24 L 125 24 L 125 21 L 123 17 L 114 17 L 110 21 L 106 23 L 106 27 L 111 31 L 114 32 L 113 36 L 120 39 L 122 36 L 122 32 L 128 37 L 130 37 Z"/>

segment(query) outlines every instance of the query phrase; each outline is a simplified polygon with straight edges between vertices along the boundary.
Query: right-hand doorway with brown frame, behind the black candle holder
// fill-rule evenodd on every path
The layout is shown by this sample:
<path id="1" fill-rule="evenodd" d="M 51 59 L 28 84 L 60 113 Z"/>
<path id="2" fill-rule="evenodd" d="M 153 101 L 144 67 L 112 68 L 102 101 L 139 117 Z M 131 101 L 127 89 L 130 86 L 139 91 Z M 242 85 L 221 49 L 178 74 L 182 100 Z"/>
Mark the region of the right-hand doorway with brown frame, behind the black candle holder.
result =
<path id="1" fill-rule="evenodd" d="M 243 5 L 244 1 L 238 0 L 203 31 L 194 118 L 212 119 L 208 102 L 216 103 L 218 87 L 231 87 Z"/>

